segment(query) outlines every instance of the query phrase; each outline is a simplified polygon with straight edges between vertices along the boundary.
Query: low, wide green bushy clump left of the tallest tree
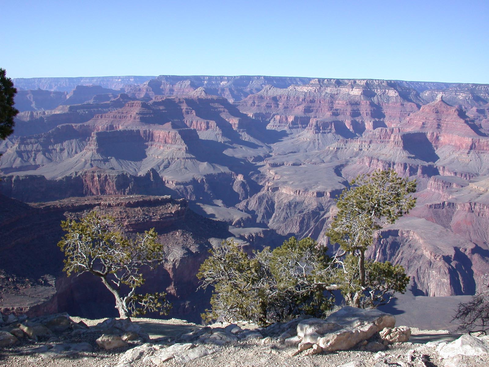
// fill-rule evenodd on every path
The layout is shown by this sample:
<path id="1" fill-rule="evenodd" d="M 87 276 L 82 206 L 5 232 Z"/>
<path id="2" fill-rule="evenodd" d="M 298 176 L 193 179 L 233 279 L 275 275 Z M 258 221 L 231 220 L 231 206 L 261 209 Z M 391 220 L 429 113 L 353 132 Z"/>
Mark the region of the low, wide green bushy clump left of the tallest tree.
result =
<path id="1" fill-rule="evenodd" d="M 300 313 L 320 317 L 332 306 L 324 294 L 332 266 L 326 248 L 311 238 L 294 237 L 270 251 L 248 256 L 233 241 L 211 250 L 201 265 L 201 287 L 214 286 L 206 321 L 223 317 L 267 325 Z"/>

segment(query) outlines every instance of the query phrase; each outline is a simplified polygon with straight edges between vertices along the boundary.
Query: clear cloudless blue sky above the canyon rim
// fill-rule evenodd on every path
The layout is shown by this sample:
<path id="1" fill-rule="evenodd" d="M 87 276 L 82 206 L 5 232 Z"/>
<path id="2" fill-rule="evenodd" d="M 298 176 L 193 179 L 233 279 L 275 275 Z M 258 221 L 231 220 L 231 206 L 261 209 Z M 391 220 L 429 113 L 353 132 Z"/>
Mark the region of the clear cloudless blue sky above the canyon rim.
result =
<path id="1" fill-rule="evenodd" d="M 10 77 L 489 83 L 489 1 L 0 0 Z"/>

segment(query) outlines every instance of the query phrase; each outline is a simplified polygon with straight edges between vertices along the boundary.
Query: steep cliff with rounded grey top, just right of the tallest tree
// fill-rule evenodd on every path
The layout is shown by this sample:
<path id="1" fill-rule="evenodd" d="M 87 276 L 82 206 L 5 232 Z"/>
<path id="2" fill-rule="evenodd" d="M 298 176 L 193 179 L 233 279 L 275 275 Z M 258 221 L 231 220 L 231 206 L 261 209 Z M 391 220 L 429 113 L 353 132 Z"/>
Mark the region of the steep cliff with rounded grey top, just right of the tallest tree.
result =
<path id="1" fill-rule="evenodd" d="M 471 295 L 487 271 L 487 246 L 476 244 L 441 226 L 403 218 L 396 229 L 383 229 L 368 255 L 403 264 L 415 295 Z"/>

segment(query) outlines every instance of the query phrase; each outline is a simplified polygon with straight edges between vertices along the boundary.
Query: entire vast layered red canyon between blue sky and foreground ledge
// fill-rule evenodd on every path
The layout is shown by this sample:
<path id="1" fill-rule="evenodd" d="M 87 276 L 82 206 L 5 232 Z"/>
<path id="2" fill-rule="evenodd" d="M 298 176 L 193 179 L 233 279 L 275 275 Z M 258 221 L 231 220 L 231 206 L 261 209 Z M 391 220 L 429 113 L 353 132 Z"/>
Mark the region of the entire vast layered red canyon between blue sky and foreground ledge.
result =
<path id="1" fill-rule="evenodd" d="M 172 316 L 198 320 L 210 295 L 195 292 L 195 274 L 209 249 L 295 235 L 333 251 L 324 232 L 334 199 L 376 169 L 416 179 L 418 191 L 370 258 L 402 264 L 415 296 L 472 295 L 488 272 L 489 85 L 172 75 L 14 84 L 21 112 L 0 145 L 0 285 L 10 295 L 0 309 L 44 289 L 19 312 L 110 312 L 100 284 L 61 273 L 56 248 L 61 220 L 97 208 L 128 233 L 156 228 L 168 249 L 148 286 L 169 293 Z"/>

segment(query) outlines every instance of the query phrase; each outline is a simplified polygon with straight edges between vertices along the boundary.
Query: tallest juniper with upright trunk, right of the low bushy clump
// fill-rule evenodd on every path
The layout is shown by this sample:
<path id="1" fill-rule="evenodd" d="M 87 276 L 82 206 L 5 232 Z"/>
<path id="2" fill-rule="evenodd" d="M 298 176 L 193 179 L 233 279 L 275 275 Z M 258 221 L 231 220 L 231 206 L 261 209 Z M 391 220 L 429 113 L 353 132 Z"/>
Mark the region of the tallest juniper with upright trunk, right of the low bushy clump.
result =
<path id="1" fill-rule="evenodd" d="M 349 305 L 375 307 L 394 292 L 404 292 L 409 282 L 404 268 L 388 261 L 366 261 L 365 251 L 376 232 L 414 207 L 416 199 L 409 195 L 414 192 L 415 181 L 388 170 L 356 177 L 338 198 L 338 212 L 326 235 L 346 255 L 338 260 L 336 281 Z"/>

